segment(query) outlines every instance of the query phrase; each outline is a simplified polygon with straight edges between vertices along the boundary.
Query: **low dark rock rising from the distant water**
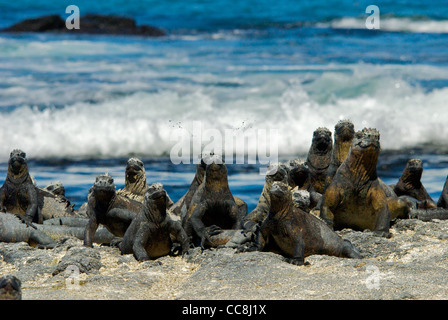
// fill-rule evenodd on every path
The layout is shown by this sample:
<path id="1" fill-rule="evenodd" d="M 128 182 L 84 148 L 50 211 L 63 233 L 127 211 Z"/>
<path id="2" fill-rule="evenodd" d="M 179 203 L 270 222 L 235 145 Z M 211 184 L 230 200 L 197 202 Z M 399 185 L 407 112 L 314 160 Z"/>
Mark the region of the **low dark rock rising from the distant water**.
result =
<path id="1" fill-rule="evenodd" d="M 137 26 L 131 18 L 99 14 L 87 14 L 80 17 L 80 29 L 69 30 L 65 26 L 65 21 L 60 16 L 50 15 L 26 19 L 0 31 L 140 35 L 148 37 L 165 35 L 164 31 L 156 27 L 148 25 Z"/>

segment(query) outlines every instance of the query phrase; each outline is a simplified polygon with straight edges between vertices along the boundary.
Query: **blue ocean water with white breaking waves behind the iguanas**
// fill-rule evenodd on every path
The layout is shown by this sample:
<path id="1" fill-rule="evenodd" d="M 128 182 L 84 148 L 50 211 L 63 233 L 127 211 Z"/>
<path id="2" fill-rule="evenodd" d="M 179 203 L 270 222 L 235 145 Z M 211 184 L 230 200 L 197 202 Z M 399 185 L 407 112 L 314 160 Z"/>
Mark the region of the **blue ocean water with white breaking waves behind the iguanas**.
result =
<path id="1" fill-rule="evenodd" d="M 435 200 L 448 175 L 448 3 L 422 1 L 4 1 L 0 28 L 47 14 L 119 14 L 167 36 L 0 34 L 0 182 L 24 150 L 38 185 L 61 181 L 77 206 L 95 176 L 124 184 L 128 157 L 173 200 L 194 165 L 169 158 L 176 130 L 277 130 L 281 159 L 303 157 L 317 127 L 375 127 L 379 174 L 420 157 Z M 368 30 L 368 5 L 380 29 Z M 228 165 L 249 209 L 263 176 Z"/>

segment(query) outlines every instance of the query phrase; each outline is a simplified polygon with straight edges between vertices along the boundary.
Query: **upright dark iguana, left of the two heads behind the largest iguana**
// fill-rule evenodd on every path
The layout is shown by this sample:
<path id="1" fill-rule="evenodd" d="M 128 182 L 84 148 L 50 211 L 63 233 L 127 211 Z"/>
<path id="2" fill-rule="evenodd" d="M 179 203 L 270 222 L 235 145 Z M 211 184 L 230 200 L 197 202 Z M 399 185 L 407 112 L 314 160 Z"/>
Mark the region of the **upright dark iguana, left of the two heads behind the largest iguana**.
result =
<path id="1" fill-rule="evenodd" d="M 320 194 L 324 192 L 332 150 L 331 131 L 327 128 L 317 128 L 313 133 L 306 164 L 310 170 L 311 184 L 314 190 Z"/>

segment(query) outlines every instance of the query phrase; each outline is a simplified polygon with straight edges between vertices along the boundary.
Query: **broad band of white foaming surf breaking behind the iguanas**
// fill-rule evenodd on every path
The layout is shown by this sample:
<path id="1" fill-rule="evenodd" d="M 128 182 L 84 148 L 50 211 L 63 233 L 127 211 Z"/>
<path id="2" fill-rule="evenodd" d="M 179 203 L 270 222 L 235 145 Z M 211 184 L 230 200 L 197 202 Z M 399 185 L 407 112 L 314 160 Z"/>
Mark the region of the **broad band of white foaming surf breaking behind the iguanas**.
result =
<path id="1" fill-rule="evenodd" d="M 317 127 L 332 130 L 340 119 L 351 119 L 357 129 L 378 128 L 384 149 L 447 144 L 448 88 L 425 91 L 404 80 L 409 74 L 443 79 L 446 69 L 360 64 L 344 66 L 351 72 L 333 71 L 340 68 L 300 77 L 246 75 L 236 88 L 186 84 L 63 108 L 29 103 L 1 114 L 0 159 L 14 148 L 33 158 L 167 155 L 175 130 L 192 132 L 194 121 L 222 133 L 278 129 L 280 155 L 306 152 Z"/>

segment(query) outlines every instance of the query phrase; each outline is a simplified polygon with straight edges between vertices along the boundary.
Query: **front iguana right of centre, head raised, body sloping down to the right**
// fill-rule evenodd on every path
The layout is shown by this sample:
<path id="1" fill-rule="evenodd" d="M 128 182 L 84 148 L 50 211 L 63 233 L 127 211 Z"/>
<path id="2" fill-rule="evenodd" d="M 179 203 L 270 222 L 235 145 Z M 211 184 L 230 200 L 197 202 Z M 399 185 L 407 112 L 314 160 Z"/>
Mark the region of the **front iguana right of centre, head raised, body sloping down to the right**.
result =
<path id="1" fill-rule="evenodd" d="M 324 221 L 295 206 L 287 184 L 274 182 L 269 194 L 269 215 L 257 231 L 254 245 L 239 251 L 273 251 L 295 265 L 308 264 L 305 257 L 312 254 L 362 258 L 349 241 Z"/>

